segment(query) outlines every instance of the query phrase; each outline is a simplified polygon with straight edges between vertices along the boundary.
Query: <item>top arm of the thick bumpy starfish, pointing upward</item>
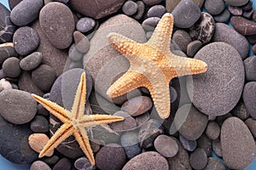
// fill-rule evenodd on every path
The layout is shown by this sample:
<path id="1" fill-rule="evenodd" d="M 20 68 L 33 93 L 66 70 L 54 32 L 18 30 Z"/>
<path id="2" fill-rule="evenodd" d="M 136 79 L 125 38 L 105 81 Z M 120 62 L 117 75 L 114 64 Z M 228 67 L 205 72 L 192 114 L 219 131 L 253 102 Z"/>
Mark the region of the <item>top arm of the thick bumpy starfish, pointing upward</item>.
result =
<path id="1" fill-rule="evenodd" d="M 154 32 L 147 44 L 159 49 L 162 53 L 170 52 L 170 43 L 172 37 L 173 15 L 166 13 L 155 27 Z"/>

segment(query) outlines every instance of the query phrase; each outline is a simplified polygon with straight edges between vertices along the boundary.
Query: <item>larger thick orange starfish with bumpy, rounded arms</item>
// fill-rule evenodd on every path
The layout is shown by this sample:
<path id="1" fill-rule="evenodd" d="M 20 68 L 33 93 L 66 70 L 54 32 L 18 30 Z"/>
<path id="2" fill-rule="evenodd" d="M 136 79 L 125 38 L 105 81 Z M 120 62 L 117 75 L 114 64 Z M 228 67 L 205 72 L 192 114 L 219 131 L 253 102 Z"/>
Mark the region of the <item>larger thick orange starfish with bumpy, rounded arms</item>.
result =
<path id="1" fill-rule="evenodd" d="M 161 118 L 170 116 L 169 82 L 173 77 L 194 75 L 207 71 L 207 64 L 172 54 L 170 42 L 173 27 L 172 14 L 166 13 L 146 43 L 135 42 L 118 33 L 109 33 L 113 48 L 130 62 L 130 68 L 113 85 L 107 94 L 111 98 L 126 94 L 134 88 L 148 88 L 156 111 Z"/>

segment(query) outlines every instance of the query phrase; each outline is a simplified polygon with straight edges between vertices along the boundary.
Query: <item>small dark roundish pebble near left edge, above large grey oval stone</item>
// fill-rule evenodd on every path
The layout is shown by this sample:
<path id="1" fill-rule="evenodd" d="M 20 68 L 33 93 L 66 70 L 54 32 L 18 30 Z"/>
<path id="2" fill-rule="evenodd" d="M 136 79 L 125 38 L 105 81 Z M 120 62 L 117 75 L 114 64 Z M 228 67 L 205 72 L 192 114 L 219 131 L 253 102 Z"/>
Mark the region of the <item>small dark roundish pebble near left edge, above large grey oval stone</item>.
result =
<path id="1" fill-rule="evenodd" d="M 20 59 L 17 59 L 16 57 L 5 59 L 3 62 L 3 73 L 6 77 L 19 77 L 21 73 Z"/>

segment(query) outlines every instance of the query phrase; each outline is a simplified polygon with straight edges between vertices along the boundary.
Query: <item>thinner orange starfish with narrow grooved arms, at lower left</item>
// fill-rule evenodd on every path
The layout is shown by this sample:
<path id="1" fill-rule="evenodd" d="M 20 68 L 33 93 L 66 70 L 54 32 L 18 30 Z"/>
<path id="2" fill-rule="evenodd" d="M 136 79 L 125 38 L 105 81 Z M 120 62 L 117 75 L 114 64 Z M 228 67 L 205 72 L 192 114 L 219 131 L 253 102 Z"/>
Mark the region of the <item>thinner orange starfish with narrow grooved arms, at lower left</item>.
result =
<path id="1" fill-rule="evenodd" d="M 63 122 L 63 125 L 55 132 L 51 139 L 49 139 L 47 144 L 45 144 L 44 149 L 41 150 L 38 156 L 39 158 L 47 155 L 50 150 L 54 150 L 55 147 L 61 144 L 61 142 L 67 139 L 69 136 L 74 135 L 75 139 L 80 145 L 80 148 L 84 151 L 84 154 L 88 157 L 90 163 L 95 165 L 95 159 L 90 148 L 85 127 L 93 127 L 99 124 L 122 121 L 124 120 L 124 117 L 109 115 L 84 115 L 85 96 L 86 80 L 84 73 L 81 75 L 79 87 L 73 101 L 72 111 L 67 111 L 52 101 L 41 98 L 36 94 L 32 94 L 32 97 L 36 99 L 38 103 L 43 105 L 49 112 Z"/>

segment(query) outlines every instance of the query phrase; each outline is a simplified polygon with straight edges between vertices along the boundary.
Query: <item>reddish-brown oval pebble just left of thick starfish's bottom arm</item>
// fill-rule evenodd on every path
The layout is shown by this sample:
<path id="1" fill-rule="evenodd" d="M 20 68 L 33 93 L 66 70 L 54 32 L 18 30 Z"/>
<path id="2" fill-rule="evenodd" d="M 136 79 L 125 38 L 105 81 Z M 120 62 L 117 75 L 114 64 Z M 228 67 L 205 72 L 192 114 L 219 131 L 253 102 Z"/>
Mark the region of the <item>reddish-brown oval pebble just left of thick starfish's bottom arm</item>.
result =
<path id="1" fill-rule="evenodd" d="M 125 111 L 131 116 L 139 116 L 151 109 L 152 105 L 152 100 L 147 96 L 137 96 L 126 101 L 122 105 L 121 111 Z"/>

